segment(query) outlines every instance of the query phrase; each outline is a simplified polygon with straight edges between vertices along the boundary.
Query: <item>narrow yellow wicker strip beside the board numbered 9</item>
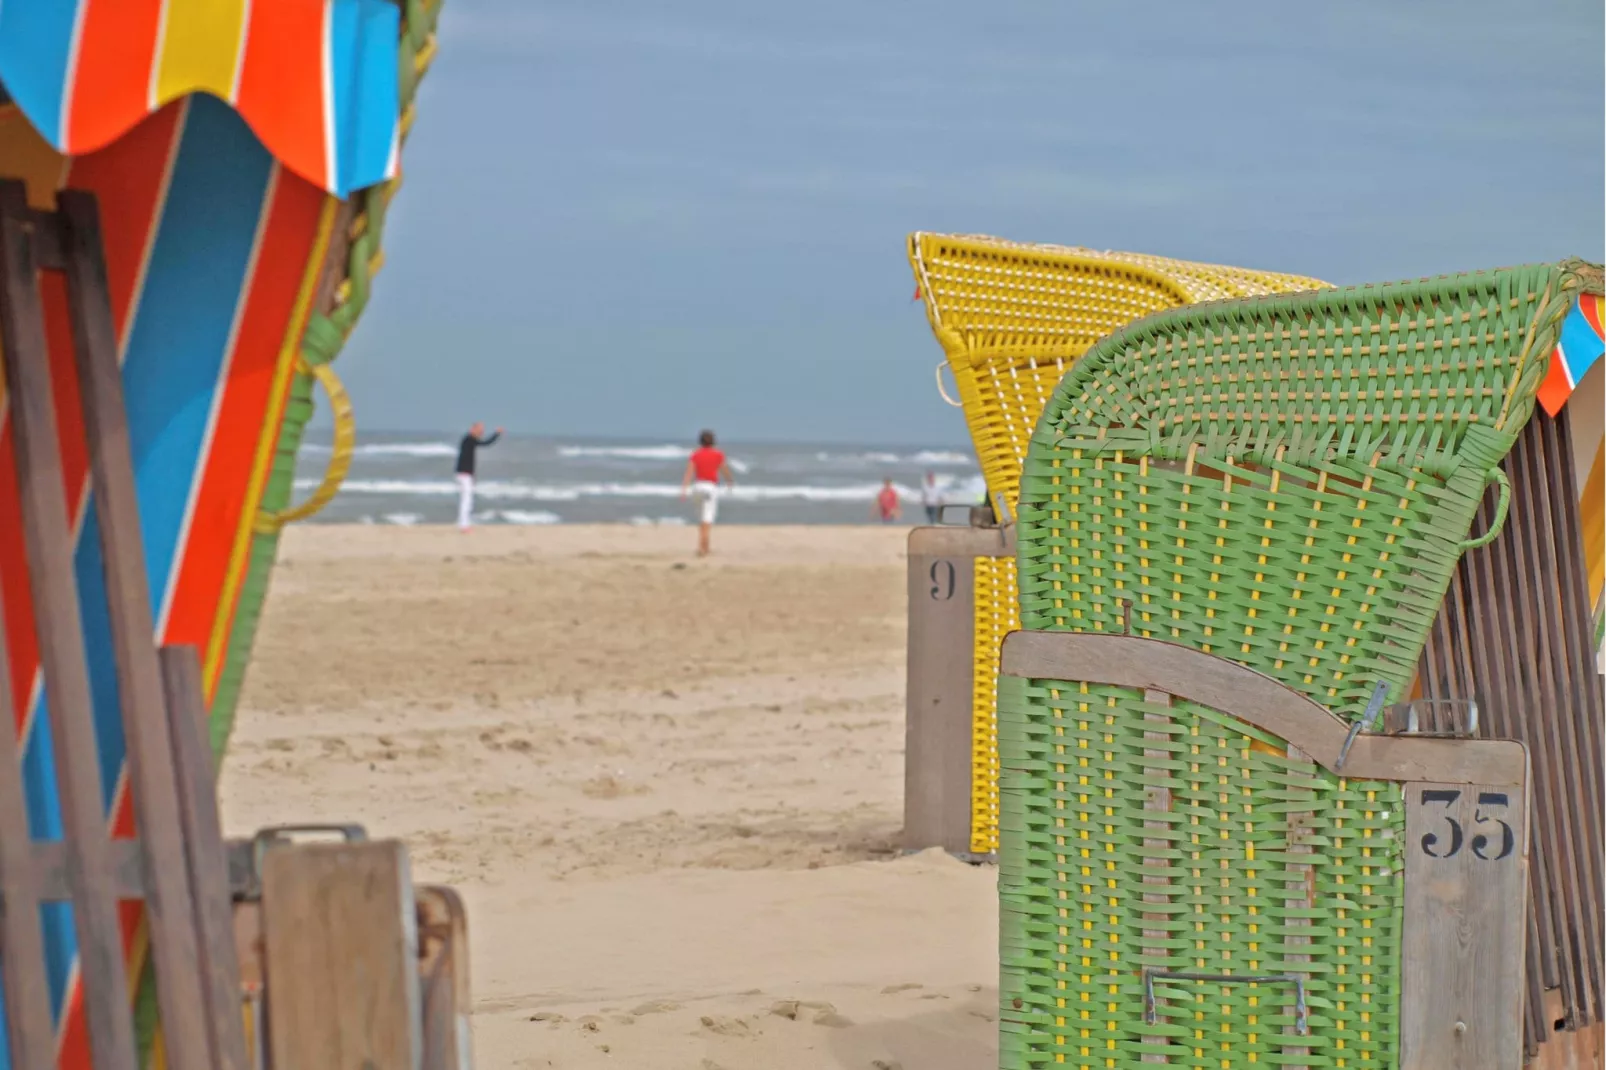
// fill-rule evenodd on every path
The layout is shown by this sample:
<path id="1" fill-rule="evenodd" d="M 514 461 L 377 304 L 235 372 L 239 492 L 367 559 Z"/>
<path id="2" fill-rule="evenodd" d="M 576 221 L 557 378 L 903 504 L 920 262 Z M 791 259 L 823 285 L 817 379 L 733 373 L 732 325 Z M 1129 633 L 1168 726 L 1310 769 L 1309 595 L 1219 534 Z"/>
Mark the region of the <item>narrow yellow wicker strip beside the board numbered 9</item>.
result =
<path id="1" fill-rule="evenodd" d="M 975 564 L 975 662 L 970 723 L 970 850 L 991 855 L 999 848 L 999 647 L 1020 628 L 1013 557 L 976 557 Z"/>

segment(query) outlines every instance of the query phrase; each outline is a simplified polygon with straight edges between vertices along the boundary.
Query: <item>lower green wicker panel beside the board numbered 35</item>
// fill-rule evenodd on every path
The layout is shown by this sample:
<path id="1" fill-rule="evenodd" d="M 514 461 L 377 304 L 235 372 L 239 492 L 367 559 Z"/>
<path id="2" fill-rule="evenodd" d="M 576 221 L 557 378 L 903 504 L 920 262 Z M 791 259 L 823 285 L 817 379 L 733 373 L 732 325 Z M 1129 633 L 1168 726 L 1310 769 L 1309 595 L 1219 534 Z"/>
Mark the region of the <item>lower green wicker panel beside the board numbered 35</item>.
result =
<path id="1" fill-rule="evenodd" d="M 1029 770 L 1004 786 L 1001 1065 L 1394 1067 L 1397 786 L 1188 702 L 999 691 L 1004 766 Z M 1310 1035 L 1286 985 L 1161 980 L 1148 1025 L 1143 967 L 1309 975 Z"/>

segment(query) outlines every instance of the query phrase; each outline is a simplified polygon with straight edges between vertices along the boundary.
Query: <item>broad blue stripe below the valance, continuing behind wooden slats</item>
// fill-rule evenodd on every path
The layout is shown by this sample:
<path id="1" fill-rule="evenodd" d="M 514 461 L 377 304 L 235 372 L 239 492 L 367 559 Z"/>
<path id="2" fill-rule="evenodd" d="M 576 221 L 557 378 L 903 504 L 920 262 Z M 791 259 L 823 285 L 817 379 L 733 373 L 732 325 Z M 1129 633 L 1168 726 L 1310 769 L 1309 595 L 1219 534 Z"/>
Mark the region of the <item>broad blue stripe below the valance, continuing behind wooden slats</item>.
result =
<path id="1" fill-rule="evenodd" d="M 135 490 L 145 535 L 153 611 L 175 578 L 190 492 L 201 474 L 212 400 L 230 329 L 251 263 L 273 161 L 234 111 L 207 95 L 188 103 L 145 289 L 128 331 L 122 382 L 133 450 Z M 106 578 L 93 501 L 74 551 L 79 604 L 108 807 L 125 757 L 116 662 L 106 617 Z M 59 839 L 61 818 L 50 760 L 48 702 L 40 702 L 26 742 L 34 835 Z M 67 966 L 77 953 L 71 908 L 45 914 L 51 1006 L 59 1022 Z M 6 1067 L 0 1052 L 0 1070 Z"/>

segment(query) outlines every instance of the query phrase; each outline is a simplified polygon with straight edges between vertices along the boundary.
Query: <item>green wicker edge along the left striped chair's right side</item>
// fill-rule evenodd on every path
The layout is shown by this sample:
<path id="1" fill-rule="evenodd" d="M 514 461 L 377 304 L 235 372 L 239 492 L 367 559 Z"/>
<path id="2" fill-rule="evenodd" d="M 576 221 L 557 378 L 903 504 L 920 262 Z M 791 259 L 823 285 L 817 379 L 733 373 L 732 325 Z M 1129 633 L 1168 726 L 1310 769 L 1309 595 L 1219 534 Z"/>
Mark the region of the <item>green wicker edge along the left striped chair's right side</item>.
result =
<path id="1" fill-rule="evenodd" d="M 406 0 L 403 6 L 402 40 L 397 56 L 397 63 L 400 64 L 398 104 L 403 141 L 413 125 L 419 80 L 435 51 L 435 24 L 440 19 L 442 2 Z M 363 308 L 368 305 L 373 272 L 379 263 L 379 236 L 384 231 L 385 210 L 398 186 L 400 178 L 392 178 L 352 196 L 357 210 L 352 218 L 350 233 L 355 238 L 350 243 L 345 259 L 345 283 L 340 288 L 344 300 L 337 299 L 337 305 L 328 313 L 315 308 L 308 317 L 300 344 L 300 360 L 305 365 L 316 366 L 332 361 L 339 355 L 340 347 L 345 345 L 345 339 L 350 337 Z M 296 480 L 296 455 L 300 450 L 307 421 L 313 415 L 313 374 L 297 370 L 291 382 L 291 395 L 284 406 L 284 423 L 273 453 L 273 469 L 262 492 L 262 503 L 259 506 L 262 511 L 279 513 L 289 506 L 291 488 Z M 241 582 L 228 649 L 223 655 L 223 672 L 212 694 L 209 712 L 212 752 L 220 768 L 223 750 L 234 729 L 239 691 L 244 684 L 246 665 L 251 660 L 251 649 L 257 638 L 257 625 L 262 620 L 262 606 L 268 594 L 268 574 L 273 570 L 273 561 L 279 548 L 279 527 L 263 527 L 267 530 L 257 529 L 251 535 L 246 575 Z M 149 956 L 146 956 L 135 996 L 135 1031 L 141 1052 L 140 1064 L 145 1067 L 153 1064 L 159 1020 L 154 982 L 156 974 Z"/>

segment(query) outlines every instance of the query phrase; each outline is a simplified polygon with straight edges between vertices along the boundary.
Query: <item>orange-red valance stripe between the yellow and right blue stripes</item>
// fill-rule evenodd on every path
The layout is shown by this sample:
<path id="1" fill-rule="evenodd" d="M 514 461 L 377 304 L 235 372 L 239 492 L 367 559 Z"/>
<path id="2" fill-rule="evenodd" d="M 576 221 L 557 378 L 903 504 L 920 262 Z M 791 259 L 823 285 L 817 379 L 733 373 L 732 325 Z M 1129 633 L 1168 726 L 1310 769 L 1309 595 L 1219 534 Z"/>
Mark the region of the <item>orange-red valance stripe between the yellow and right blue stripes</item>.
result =
<path id="1" fill-rule="evenodd" d="M 324 3 L 252 3 L 239 72 L 239 114 L 286 167 L 328 186 Z"/>

